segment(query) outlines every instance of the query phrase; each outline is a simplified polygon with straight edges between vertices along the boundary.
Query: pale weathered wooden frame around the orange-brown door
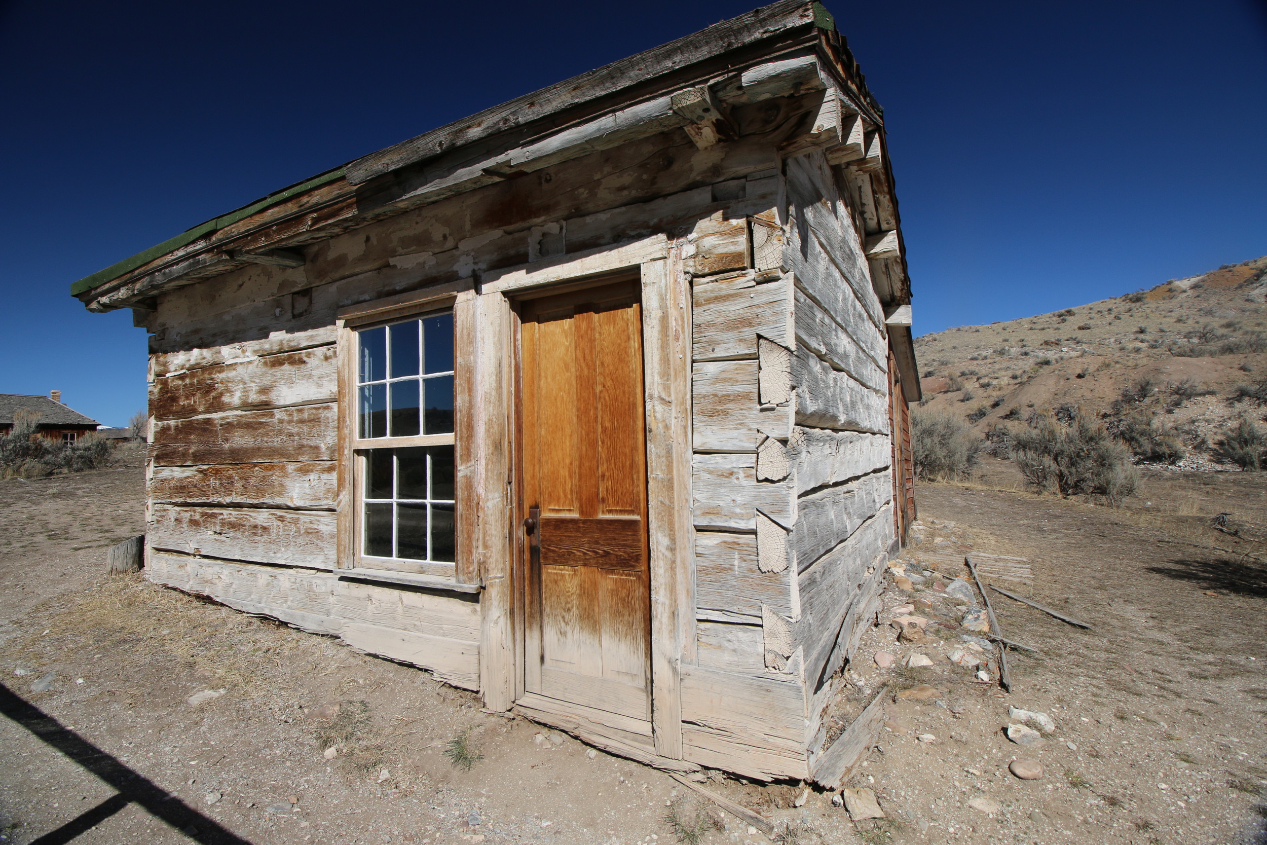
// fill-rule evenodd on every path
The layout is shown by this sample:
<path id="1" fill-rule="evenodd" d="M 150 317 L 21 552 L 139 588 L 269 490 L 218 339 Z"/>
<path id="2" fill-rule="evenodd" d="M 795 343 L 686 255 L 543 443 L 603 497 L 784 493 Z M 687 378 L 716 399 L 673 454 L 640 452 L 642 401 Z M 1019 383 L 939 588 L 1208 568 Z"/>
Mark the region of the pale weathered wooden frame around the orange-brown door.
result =
<path id="1" fill-rule="evenodd" d="M 480 489 L 476 561 L 480 689 L 490 709 L 523 694 L 523 516 L 518 513 L 518 318 L 512 298 L 535 289 L 602 284 L 637 274 L 642 289 L 642 384 L 646 422 L 647 536 L 651 580 L 651 732 L 659 756 L 680 760 L 680 666 L 694 661 L 694 528 L 691 498 L 691 291 L 679 250 L 654 236 L 485 274 L 475 302 L 475 384 Z M 544 293 L 544 291 L 542 291 Z"/>

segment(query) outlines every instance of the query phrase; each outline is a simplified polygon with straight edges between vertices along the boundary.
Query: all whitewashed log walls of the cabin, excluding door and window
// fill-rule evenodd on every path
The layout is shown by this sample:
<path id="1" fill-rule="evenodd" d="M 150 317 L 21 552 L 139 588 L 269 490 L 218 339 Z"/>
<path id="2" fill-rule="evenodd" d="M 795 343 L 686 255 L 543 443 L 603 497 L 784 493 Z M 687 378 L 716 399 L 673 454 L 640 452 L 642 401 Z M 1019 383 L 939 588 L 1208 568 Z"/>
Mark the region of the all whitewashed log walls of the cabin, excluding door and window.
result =
<path id="1" fill-rule="evenodd" d="M 883 203 L 859 199 L 856 172 L 821 149 L 784 158 L 778 146 L 822 99 L 736 108 L 737 141 L 701 149 L 674 129 L 337 234 L 303 267 L 252 265 L 161 294 L 150 578 L 478 688 L 475 597 L 336 570 L 334 315 L 665 234 L 692 295 L 683 753 L 810 777 L 829 680 L 865 627 L 895 533 L 887 338 L 865 247 Z"/>

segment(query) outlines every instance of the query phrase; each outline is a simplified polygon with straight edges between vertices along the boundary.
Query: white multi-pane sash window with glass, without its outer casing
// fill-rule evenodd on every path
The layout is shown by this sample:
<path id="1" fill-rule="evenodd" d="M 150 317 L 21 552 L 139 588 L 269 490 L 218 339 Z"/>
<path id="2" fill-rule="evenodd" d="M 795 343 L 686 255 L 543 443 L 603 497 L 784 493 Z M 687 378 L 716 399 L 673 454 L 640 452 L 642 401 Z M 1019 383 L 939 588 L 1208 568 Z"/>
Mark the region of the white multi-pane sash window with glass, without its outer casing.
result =
<path id="1" fill-rule="evenodd" d="M 357 565 L 451 575 L 454 315 L 355 334 Z"/>

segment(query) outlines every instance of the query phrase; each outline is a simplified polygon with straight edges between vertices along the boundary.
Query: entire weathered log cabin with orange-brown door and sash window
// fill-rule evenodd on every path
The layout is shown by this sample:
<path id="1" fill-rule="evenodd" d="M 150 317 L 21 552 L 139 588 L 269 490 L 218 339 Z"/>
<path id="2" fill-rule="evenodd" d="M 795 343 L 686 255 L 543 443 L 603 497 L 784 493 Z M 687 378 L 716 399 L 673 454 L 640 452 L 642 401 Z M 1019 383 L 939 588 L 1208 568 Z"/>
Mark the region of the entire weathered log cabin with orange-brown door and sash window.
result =
<path id="1" fill-rule="evenodd" d="M 883 113 L 818 4 L 72 293 L 150 332 L 151 580 L 670 770 L 853 765 L 874 708 L 839 747 L 824 711 L 915 517 L 920 389 Z"/>

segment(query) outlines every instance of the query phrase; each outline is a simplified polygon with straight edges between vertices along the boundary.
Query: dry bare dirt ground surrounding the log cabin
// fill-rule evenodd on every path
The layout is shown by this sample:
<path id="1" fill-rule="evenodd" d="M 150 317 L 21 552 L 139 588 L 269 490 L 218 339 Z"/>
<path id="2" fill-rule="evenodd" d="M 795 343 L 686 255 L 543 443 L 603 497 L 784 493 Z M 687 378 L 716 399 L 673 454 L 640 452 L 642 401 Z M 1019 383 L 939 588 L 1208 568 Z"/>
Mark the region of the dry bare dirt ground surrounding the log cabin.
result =
<path id="1" fill-rule="evenodd" d="M 1264 493 L 1258 474 L 1149 473 L 1111 509 L 1024 493 L 1003 464 L 921 484 L 925 540 L 903 560 L 938 569 L 889 583 L 837 702 L 891 702 L 846 784 L 886 818 L 851 823 L 816 791 L 798 808 L 794 783 L 707 788 L 792 822 L 789 845 L 1267 841 Z M 0 842 L 678 841 L 668 816 L 692 807 L 668 806 L 685 789 L 664 773 L 334 640 L 106 576 L 105 547 L 142 530 L 137 467 L 0 483 Z M 965 603 L 936 587 L 973 551 L 1025 557 L 1033 579 L 998 585 L 1092 626 L 992 594 L 1006 636 L 1043 651 L 1009 652 L 1010 694 L 946 659 Z M 906 602 L 921 642 L 889 625 Z M 933 665 L 882 670 L 881 650 Z M 919 684 L 936 693 L 893 703 Z M 1009 741 L 1009 706 L 1054 734 Z M 701 841 L 770 841 L 718 821 Z"/>

